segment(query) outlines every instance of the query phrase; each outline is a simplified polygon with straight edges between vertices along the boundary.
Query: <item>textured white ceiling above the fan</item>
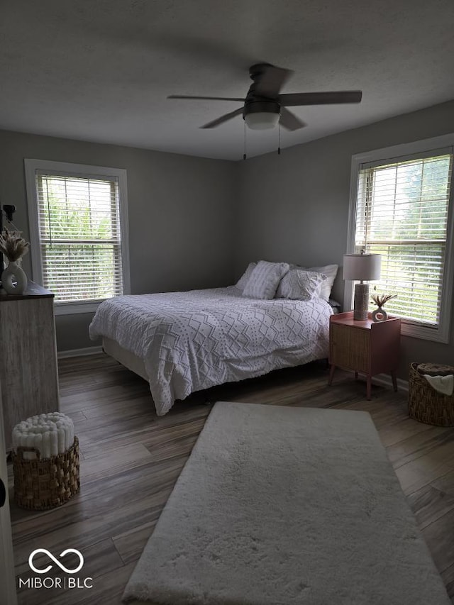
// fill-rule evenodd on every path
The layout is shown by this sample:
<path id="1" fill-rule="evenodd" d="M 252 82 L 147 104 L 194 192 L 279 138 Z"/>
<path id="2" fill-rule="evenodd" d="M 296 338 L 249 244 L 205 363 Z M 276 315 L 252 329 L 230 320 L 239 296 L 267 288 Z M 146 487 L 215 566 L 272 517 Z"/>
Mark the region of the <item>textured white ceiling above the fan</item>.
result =
<path id="1" fill-rule="evenodd" d="M 362 89 L 360 105 L 292 108 L 282 147 L 454 99 L 452 0 L 2 0 L 0 128 L 238 160 L 248 67 L 294 70 L 283 93 Z M 278 129 L 247 131 L 248 155 Z"/>

